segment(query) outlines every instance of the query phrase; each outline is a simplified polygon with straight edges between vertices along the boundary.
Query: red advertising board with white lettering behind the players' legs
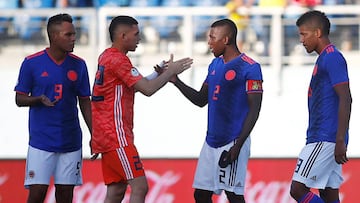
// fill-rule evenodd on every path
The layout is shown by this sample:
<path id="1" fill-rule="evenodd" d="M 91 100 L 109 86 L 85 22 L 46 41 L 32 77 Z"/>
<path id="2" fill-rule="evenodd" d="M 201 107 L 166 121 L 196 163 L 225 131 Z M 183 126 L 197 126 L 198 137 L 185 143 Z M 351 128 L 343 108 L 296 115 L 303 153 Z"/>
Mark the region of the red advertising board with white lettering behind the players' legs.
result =
<path id="1" fill-rule="evenodd" d="M 146 203 L 194 202 L 191 187 L 196 159 L 145 159 L 149 182 Z M 250 159 L 245 190 L 248 203 L 295 203 L 289 187 L 296 159 Z M 24 160 L 0 160 L 0 202 L 26 202 Z M 351 159 L 344 167 L 341 202 L 357 202 L 354 188 L 360 182 L 360 159 Z M 103 202 L 106 187 L 102 182 L 100 160 L 84 160 L 84 184 L 75 188 L 74 203 Z M 124 203 L 128 202 L 127 193 Z M 54 186 L 49 187 L 46 203 L 55 203 Z M 226 203 L 224 195 L 215 196 L 214 203 Z"/>

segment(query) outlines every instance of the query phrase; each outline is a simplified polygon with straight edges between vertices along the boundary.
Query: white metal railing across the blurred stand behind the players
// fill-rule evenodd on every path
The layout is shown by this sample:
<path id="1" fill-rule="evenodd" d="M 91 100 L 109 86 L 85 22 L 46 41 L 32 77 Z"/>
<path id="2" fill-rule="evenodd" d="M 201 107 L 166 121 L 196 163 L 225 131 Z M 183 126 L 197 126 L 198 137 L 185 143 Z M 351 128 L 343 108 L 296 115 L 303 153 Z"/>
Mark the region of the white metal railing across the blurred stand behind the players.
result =
<path id="1" fill-rule="evenodd" d="M 317 6 L 315 9 L 324 11 L 327 15 L 337 15 L 332 18 L 331 22 L 335 25 L 360 25 L 360 5 L 336 5 L 336 6 Z M 259 61 L 269 64 L 272 67 L 281 67 L 284 63 L 289 61 L 288 56 L 284 55 L 284 44 L 287 41 L 284 38 L 285 26 L 294 25 L 293 18 L 286 18 L 287 15 L 300 15 L 306 8 L 294 7 L 290 8 L 261 8 L 251 7 L 246 10 L 250 16 L 267 16 L 264 21 L 264 26 L 269 26 L 269 52 L 268 56 L 259 57 Z M 194 36 L 195 22 L 194 18 L 199 16 L 227 16 L 227 9 L 225 7 L 101 7 L 95 8 L 67 8 L 67 9 L 3 9 L 0 12 L 0 17 L 21 17 L 21 16 L 41 16 L 49 17 L 55 13 L 69 13 L 73 16 L 87 16 L 87 34 L 88 42 L 85 46 L 88 49 L 94 50 L 99 54 L 106 46 L 108 46 L 108 22 L 109 18 L 117 15 L 130 15 L 136 17 L 154 17 L 154 16 L 178 16 L 182 19 L 180 33 L 180 43 L 182 45 L 183 54 L 186 56 L 194 55 L 193 47 L 196 43 Z M 244 12 L 244 9 L 239 9 L 239 12 Z M 169 22 L 171 23 L 171 22 Z M 267 25 L 268 24 L 268 25 Z M 151 26 L 151 25 L 150 25 Z M 356 42 L 359 50 L 360 37 L 357 31 Z M 296 38 L 296 36 L 295 36 Z"/>

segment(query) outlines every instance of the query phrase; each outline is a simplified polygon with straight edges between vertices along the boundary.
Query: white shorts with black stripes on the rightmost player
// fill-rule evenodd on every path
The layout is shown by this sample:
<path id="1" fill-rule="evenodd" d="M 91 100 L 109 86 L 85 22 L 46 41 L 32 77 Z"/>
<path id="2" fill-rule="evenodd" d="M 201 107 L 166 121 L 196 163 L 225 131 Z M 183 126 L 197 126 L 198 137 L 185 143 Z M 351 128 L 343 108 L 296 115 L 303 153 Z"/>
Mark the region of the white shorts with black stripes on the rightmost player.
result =
<path id="1" fill-rule="evenodd" d="M 334 156 L 335 143 L 317 142 L 305 145 L 300 152 L 293 180 L 309 188 L 337 189 L 343 182 L 342 166 Z"/>

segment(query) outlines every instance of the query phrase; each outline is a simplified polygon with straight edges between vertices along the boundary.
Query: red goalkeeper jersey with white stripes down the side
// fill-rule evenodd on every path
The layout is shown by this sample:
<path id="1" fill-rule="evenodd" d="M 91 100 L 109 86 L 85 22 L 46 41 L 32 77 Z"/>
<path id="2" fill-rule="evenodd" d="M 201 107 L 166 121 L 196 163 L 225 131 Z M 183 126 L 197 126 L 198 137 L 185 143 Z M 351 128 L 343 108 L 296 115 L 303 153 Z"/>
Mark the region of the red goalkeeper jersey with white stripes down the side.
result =
<path id="1" fill-rule="evenodd" d="M 92 93 L 92 150 L 102 153 L 133 144 L 133 85 L 142 79 L 116 48 L 99 57 Z"/>

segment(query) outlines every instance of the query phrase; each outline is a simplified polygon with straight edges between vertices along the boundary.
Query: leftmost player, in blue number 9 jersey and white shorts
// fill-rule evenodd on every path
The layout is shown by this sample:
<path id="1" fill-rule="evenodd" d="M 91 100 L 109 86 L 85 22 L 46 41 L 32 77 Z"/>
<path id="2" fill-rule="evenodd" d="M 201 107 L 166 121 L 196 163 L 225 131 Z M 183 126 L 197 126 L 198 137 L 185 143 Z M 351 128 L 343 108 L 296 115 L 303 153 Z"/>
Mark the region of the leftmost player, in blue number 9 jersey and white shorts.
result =
<path id="1" fill-rule="evenodd" d="M 90 130 L 90 85 L 85 61 L 70 53 L 75 44 L 72 17 L 50 17 L 47 32 L 50 46 L 24 59 L 15 86 L 16 104 L 30 107 L 27 202 L 44 202 L 53 177 L 56 202 L 71 203 L 74 186 L 82 184 L 77 104 Z"/>

